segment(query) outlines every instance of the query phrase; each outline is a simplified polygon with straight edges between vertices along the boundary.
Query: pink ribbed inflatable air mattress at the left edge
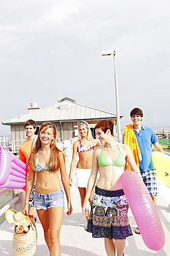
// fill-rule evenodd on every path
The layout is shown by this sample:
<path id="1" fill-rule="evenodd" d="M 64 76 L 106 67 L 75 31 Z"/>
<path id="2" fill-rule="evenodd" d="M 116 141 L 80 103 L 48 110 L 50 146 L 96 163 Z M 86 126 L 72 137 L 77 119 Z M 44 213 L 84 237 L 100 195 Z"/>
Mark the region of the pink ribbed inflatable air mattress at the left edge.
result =
<path id="1" fill-rule="evenodd" d="M 24 188 L 26 165 L 17 156 L 0 146 L 0 188 Z"/>

